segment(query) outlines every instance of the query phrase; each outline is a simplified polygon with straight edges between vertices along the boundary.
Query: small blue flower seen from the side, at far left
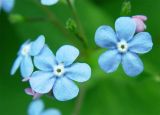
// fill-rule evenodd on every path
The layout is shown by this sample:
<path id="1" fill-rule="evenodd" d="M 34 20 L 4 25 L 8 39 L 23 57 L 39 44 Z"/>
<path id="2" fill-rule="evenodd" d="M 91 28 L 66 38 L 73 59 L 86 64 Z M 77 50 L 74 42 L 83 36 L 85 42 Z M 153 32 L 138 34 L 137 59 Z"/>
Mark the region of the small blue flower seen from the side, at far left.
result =
<path id="1" fill-rule="evenodd" d="M 14 75 L 20 67 L 21 75 L 23 78 L 28 78 L 33 72 L 33 63 L 31 56 L 36 56 L 40 53 L 45 44 L 43 35 L 39 36 L 37 40 L 30 42 L 26 41 L 18 52 L 18 57 L 15 60 L 11 69 L 11 75 Z"/>

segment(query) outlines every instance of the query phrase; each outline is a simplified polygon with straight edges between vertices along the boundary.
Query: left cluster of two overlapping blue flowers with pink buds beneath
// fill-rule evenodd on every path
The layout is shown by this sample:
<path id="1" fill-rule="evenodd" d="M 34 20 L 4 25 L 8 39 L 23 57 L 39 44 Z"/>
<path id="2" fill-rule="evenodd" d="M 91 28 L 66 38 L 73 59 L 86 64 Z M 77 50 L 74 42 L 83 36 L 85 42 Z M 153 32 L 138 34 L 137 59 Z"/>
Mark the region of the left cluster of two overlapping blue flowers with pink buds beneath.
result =
<path id="1" fill-rule="evenodd" d="M 25 91 L 34 97 L 52 92 L 59 101 L 70 100 L 79 92 L 73 81 L 85 82 L 91 76 L 88 64 L 74 63 L 78 56 L 79 50 L 71 45 L 60 47 L 54 55 L 41 35 L 35 41 L 28 40 L 21 46 L 11 75 L 20 67 L 23 81 L 29 81 L 31 86 Z M 38 69 L 35 72 L 34 66 Z"/>

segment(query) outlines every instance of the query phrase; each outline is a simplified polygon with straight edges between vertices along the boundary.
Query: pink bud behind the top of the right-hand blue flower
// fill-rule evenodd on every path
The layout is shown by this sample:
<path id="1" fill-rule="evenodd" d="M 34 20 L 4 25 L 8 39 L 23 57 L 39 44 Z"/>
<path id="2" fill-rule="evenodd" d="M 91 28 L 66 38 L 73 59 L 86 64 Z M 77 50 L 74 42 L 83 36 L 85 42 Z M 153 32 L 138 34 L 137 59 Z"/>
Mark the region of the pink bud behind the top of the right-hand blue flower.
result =
<path id="1" fill-rule="evenodd" d="M 132 19 L 136 22 L 136 32 L 143 32 L 147 26 L 145 25 L 145 21 L 147 21 L 147 17 L 143 15 L 132 16 Z"/>

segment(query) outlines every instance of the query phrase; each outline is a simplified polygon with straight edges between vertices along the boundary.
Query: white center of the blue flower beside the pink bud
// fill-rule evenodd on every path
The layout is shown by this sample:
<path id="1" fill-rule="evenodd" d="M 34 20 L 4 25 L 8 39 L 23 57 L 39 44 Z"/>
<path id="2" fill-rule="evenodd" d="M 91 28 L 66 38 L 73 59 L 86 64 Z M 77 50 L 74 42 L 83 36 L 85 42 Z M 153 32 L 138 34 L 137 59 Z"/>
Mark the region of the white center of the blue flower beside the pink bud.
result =
<path id="1" fill-rule="evenodd" d="M 122 40 L 117 44 L 117 48 L 119 52 L 125 53 L 128 50 L 128 43 Z"/>

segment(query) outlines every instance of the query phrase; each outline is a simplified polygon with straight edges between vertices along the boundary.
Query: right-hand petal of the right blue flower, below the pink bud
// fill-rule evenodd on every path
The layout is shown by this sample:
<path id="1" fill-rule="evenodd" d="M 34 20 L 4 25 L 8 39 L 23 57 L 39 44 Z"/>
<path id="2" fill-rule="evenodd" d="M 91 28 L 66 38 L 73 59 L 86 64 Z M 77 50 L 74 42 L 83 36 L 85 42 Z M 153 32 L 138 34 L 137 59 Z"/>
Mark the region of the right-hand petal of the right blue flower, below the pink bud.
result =
<path id="1" fill-rule="evenodd" d="M 152 49 L 153 43 L 151 35 L 147 32 L 141 32 L 135 35 L 129 43 L 129 50 L 135 53 L 147 53 Z"/>

